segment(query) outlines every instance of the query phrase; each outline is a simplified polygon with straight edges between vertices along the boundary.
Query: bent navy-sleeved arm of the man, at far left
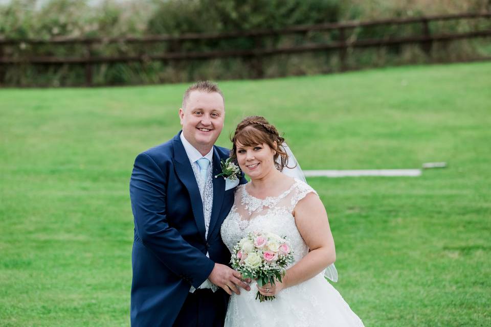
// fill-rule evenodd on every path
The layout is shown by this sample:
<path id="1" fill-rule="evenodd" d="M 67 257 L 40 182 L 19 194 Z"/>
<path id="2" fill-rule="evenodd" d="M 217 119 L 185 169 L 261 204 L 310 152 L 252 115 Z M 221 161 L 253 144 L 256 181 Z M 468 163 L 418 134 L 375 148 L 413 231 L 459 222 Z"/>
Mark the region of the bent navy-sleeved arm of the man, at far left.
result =
<path id="1" fill-rule="evenodd" d="M 135 159 L 129 192 L 135 228 L 142 243 L 173 273 L 198 288 L 215 263 L 169 226 L 166 215 L 167 175 L 146 153 Z"/>

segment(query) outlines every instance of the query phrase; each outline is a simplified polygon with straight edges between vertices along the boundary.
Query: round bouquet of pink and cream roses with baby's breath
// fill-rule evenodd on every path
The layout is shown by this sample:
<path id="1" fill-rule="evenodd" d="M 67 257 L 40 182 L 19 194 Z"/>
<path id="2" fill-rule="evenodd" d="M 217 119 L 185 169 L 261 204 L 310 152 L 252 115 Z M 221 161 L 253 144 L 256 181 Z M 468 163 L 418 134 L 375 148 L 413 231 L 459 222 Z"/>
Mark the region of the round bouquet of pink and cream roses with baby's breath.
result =
<path id="1" fill-rule="evenodd" d="M 243 278 L 257 279 L 262 287 L 267 283 L 281 282 L 286 267 L 294 261 L 292 250 L 285 238 L 270 232 L 253 232 L 234 246 L 232 268 Z M 273 300 L 275 296 L 256 294 L 260 302 Z"/>

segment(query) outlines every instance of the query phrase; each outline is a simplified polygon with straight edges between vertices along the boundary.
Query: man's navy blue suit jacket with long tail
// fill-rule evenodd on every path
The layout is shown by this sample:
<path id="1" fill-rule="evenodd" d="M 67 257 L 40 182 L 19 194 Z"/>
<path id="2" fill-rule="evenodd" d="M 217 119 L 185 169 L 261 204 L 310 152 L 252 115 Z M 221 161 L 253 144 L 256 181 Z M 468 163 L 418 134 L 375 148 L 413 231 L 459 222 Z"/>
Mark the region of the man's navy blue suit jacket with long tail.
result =
<path id="1" fill-rule="evenodd" d="M 191 285 L 198 288 L 215 263 L 230 261 L 220 226 L 232 207 L 234 189 L 225 191 L 224 178 L 213 178 L 213 207 L 205 238 L 203 202 L 180 134 L 140 153 L 131 174 L 133 327 L 171 326 Z M 213 176 L 221 172 L 220 159 L 229 153 L 213 147 Z"/>

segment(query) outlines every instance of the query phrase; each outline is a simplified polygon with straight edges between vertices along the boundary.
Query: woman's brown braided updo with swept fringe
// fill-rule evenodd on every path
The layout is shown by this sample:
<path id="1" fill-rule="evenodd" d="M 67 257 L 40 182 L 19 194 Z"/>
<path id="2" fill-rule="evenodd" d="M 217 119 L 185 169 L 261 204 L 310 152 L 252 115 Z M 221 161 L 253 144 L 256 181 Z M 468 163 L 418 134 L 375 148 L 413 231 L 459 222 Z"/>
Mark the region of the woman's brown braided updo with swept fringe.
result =
<path id="1" fill-rule="evenodd" d="M 267 144 L 275 150 L 274 155 L 275 167 L 280 172 L 286 166 L 288 155 L 283 148 L 285 139 L 281 137 L 275 126 L 271 125 L 262 116 L 249 116 L 244 118 L 235 129 L 234 136 L 230 137 L 233 147 L 230 151 L 230 158 L 237 161 L 237 142 L 246 147 L 252 147 L 258 144 Z M 276 142 L 276 146 L 275 143 Z M 280 157 L 279 162 L 277 158 Z"/>

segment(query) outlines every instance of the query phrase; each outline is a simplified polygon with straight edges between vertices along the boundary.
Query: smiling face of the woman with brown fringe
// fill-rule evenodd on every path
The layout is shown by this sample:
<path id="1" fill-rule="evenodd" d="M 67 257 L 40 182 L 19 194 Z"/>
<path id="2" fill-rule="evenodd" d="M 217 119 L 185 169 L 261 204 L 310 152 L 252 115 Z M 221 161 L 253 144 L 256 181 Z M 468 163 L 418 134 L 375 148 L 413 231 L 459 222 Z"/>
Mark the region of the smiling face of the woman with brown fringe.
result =
<path id="1" fill-rule="evenodd" d="M 237 143 L 236 154 L 240 169 L 251 178 L 262 178 L 276 169 L 276 151 L 265 143 L 254 146 Z"/>

